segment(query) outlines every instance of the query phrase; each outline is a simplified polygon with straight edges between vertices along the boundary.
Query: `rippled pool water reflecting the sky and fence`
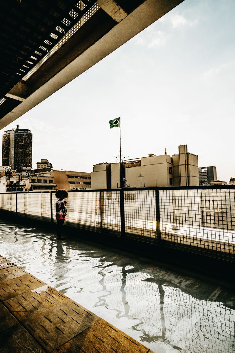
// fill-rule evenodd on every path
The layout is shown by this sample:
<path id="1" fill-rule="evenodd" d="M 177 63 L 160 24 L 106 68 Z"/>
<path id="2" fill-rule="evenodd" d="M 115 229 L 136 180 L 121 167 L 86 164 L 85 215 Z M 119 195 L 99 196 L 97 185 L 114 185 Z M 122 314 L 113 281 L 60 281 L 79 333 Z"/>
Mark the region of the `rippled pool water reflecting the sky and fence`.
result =
<path id="1" fill-rule="evenodd" d="M 207 279 L 2 221 L 0 253 L 155 352 L 235 352 L 234 295 Z"/>

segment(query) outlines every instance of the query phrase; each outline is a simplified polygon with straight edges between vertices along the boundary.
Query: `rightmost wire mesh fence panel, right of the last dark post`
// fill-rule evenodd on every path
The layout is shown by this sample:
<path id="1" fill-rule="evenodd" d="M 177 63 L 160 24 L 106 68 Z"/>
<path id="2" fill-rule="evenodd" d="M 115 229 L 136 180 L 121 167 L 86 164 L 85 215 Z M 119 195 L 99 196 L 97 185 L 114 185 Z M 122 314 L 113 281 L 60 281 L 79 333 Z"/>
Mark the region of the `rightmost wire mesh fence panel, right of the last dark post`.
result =
<path id="1" fill-rule="evenodd" d="M 160 190 L 159 195 L 161 240 L 166 246 L 233 257 L 234 189 L 171 189 Z"/>

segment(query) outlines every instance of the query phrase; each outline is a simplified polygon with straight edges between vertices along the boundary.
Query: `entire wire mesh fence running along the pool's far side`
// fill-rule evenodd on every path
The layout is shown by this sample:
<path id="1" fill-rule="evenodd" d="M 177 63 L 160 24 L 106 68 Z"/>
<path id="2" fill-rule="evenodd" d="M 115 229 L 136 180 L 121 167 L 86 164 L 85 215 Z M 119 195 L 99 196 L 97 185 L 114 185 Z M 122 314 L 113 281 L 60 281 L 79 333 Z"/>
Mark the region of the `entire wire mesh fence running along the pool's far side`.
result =
<path id="1" fill-rule="evenodd" d="M 1 209 L 56 223 L 55 192 L 0 193 Z M 67 226 L 234 261 L 235 187 L 69 191 Z"/>

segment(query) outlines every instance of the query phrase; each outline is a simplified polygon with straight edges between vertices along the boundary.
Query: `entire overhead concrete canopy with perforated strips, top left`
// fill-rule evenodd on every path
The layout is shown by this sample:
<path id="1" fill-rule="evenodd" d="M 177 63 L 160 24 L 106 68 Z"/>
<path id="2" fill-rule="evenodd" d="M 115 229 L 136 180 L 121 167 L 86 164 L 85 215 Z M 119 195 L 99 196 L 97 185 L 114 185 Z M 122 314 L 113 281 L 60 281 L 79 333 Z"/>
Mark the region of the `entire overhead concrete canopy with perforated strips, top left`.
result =
<path id="1" fill-rule="evenodd" d="M 1 4 L 0 129 L 183 0 L 9 0 Z"/>

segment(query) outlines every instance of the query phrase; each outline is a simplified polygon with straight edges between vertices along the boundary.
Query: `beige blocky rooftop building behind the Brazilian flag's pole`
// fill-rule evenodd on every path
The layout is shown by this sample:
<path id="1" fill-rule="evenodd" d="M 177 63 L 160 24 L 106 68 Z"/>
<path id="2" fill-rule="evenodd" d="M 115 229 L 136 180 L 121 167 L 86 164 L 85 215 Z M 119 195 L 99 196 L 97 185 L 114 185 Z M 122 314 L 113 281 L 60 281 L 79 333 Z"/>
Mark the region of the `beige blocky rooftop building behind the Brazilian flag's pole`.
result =
<path id="1" fill-rule="evenodd" d="M 99 163 L 91 173 L 92 189 L 118 187 L 196 186 L 198 156 L 187 152 L 187 145 L 179 146 L 179 154 L 123 160 L 122 163 Z"/>

